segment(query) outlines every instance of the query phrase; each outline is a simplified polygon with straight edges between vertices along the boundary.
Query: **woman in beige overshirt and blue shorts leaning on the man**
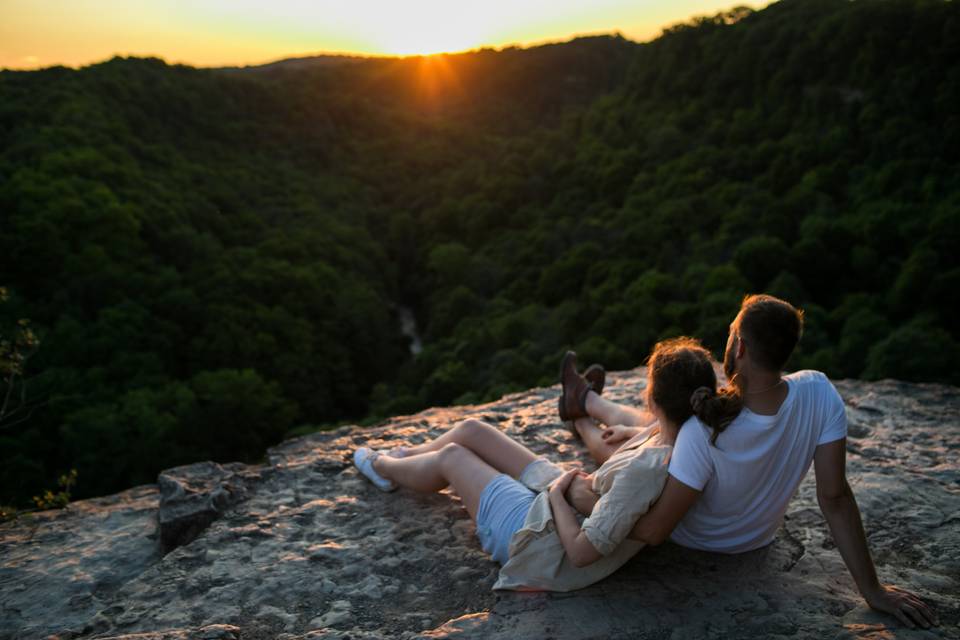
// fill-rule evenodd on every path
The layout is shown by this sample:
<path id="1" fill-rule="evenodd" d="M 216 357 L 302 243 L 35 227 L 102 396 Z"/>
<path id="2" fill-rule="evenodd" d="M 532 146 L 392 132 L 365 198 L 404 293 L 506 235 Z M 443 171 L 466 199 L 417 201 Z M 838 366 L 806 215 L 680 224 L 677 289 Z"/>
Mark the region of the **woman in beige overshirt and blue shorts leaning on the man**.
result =
<path id="1" fill-rule="evenodd" d="M 483 549 L 502 565 L 495 589 L 570 591 L 606 577 L 643 546 L 627 534 L 659 496 L 672 444 L 696 420 L 694 405 L 716 413 L 709 405 L 729 400 L 713 393 L 716 386 L 714 361 L 696 340 L 654 347 L 646 395 L 656 422 L 588 476 L 600 499 L 582 521 L 565 497 L 581 472 L 564 472 L 479 420 L 388 455 L 364 447 L 354 461 L 385 491 L 452 487 L 476 522 Z M 564 396 L 567 391 L 564 384 Z"/>

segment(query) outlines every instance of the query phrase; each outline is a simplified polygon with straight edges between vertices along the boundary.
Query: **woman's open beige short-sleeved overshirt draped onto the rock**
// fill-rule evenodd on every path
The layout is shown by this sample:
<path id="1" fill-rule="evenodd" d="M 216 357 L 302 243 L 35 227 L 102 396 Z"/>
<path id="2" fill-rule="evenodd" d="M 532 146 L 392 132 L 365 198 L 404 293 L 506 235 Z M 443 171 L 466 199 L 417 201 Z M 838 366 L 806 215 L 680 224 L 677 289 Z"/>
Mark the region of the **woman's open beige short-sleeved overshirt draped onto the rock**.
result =
<path id="1" fill-rule="evenodd" d="M 644 429 L 593 474 L 593 490 L 600 500 L 590 517 L 582 520 L 581 528 L 603 557 L 585 567 L 576 567 L 567 558 L 550 509 L 547 489 L 563 469 L 543 458 L 524 469 L 520 482 L 539 495 L 523 526 L 510 539 L 510 559 L 500 569 L 493 588 L 582 589 L 619 569 L 643 548 L 643 543 L 628 540 L 627 535 L 667 481 L 673 447 L 661 443 L 658 432 L 657 427 Z"/>

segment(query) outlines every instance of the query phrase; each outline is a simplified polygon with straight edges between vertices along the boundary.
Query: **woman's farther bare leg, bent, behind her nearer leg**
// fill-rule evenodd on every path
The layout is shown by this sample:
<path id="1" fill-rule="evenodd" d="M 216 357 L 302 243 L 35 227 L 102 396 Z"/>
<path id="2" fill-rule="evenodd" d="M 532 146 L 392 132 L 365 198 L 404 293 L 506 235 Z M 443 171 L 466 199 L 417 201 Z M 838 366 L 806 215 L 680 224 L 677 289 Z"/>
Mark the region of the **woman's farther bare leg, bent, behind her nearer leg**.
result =
<path id="1" fill-rule="evenodd" d="M 537 458 L 535 453 L 496 427 L 473 418 L 458 422 L 435 440 L 407 447 L 407 456 L 434 453 L 448 444 L 470 449 L 494 469 L 514 478 L 520 477 L 526 466 Z"/>

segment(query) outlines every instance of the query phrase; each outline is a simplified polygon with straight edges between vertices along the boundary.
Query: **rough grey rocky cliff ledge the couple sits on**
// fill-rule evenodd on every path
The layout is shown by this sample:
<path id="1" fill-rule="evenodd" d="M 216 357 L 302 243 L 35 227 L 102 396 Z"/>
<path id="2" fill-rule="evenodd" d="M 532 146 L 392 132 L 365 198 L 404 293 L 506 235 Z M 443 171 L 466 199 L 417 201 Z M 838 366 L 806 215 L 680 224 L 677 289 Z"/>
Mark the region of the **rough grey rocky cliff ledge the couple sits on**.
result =
<path id="1" fill-rule="evenodd" d="M 812 471 L 764 549 L 665 544 L 593 587 L 545 594 L 491 591 L 497 565 L 455 496 L 383 494 L 350 464 L 361 444 L 417 443 L 480 417 L 591 468 L 552 387 L 290 440 L 259 466 L 179 467 L 0 525 L 0 638 L 960 637 L 960 390 L 836 384 L 881 579 L 932 603 L 938 628 L 865 607 Z M 642 370 L 611 374 L 606 394 L 634 402 L 644 385 Z"/>

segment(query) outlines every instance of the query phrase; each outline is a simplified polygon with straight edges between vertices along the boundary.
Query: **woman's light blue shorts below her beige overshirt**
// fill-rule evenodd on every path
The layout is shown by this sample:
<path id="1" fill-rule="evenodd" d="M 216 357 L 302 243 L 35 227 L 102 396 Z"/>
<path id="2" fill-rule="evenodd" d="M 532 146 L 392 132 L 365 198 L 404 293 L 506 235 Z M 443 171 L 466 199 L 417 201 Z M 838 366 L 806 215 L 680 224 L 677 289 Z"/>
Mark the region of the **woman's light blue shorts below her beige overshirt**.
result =
<path id="1" fill-rule="evenodd" d="M 477 537 L 483 550 L 500 564 L 510 559 L 510 538 L 523 526 L 536 497 L 505 473 L 483 488 L 477 508 Z"/>

